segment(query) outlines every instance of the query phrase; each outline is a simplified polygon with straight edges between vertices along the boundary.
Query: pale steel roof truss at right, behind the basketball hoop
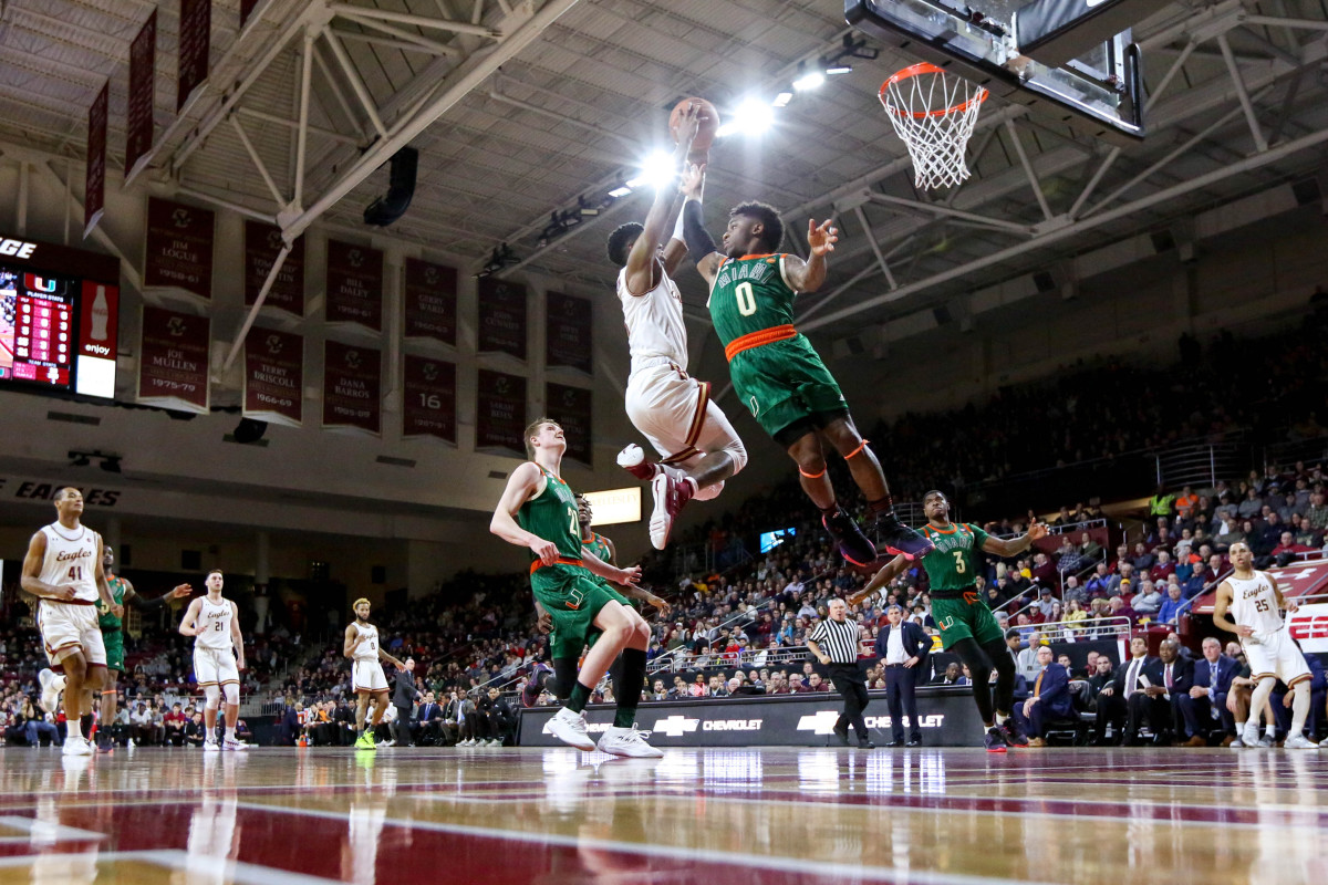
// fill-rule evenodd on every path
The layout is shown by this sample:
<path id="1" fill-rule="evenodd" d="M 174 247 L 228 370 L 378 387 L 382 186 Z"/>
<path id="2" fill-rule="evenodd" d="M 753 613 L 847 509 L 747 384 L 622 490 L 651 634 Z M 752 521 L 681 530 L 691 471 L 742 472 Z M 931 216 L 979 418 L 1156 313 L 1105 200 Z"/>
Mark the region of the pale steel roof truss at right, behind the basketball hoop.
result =
<path id="1" fill-rule="evenodd" d="M 1291 52 L 1274 46 L 1262 34 L 1248 31 L 1251 27 L 1270 27 L 1287 38 Z M 1236 29 L 1242 40 L 1250 36 L 1258 37 L 1260 44 L 1274 46 L 1276 52 L 1264 58 L 1254 58 L 1242 64 L 1238 53 L 1232 49 L 1231 37 Z M 979 127 L 988 130 L 985 139 L 996 138 L 995 133 L 1004 131 L 1009 139 L 1017 163 L 1015 170 L 1021 170 L 1023 175 L 1012 176 L 1011 169 L 1004 169 L 995 175 L 976 175 L 963 188 L 950 192 L 946 203 L 927 202 L 922 198 L 902 198 L 878 192 L 882 182 L 900 172 L 911 172 L 911 162 L 907 157 L 895 159 L 879 170 L 862 176 L 846 188 L 839 188 L 829 195 L 829 200 L 809 202 L 794 210 L 785 212 L 785 218 L 805 218 L 807 212 L 831 202 L 837 215 L 851 212 L 867 236 L 863 244 L 837 252 L 837 263 L 874 259 L 861 269 L 853 280 L 831 291 L 803 313 L 799 324 L 803 330 L 825 328 L 837 322 L 843 322 L 866 310 L 878 309 L 900 299 L 915 296 L 936 287 L 964 280 L 969 275 L 991 268 L 997 264 L 1028 257 L 1037 249 L 1045 249 L 1056 244 L 1065 243 L 1070 238 L 1093 230 L 1105 227 L 1113 222 L 1139 215 L 1147 210 L 1165 206 L 1167 202 L 1194 194 L 1206 187 L 1218 184 L 1226 179 L 1248 175 L 1258 170 L 1264 170 L 1279 161 L 1284 161 L 1293 154 L 1309 150 L 1328 142 L 1328 129 L 1304 130 L 1296 138 L 1286 138 L 1286 127 L 1292 122 L 1292 109 L 1296 103 L 1301 81 L 1313 69 L 1321 66 L 1328 58 L 1325 40 L 1311 38 L 1301 42 L 1296 34 L 1307 36 L 1328 32 L 1328 21 L 1305 19 L 1288 19 L 1280 16 L 1254 15 L 1248 12 L 1240 0 L 1226 0 L 1208 9 L 1191 13 L 1185 20 L 1151 34 L 1145 41 L 1145 49 L 1157 50 L 1181 44 L 1178 54 L 1170 61 L 1163 77 L 1154 86 L 1147 110 L 1157 111 L 1149 119 L 1147 143 L 1155 143 L 1166 131 L 1183 133 L 1181 126 L 1191 119 L 1202 119 L 1203 127 L 1197 133 L 1183 133 L 1186 138 L 1174 149 L 1161 157 L 1149 157 L 1143 169 L 1133 172 L 1130 178 L 1114 187 L 1105 196 L 1093 200 L 1093 195 L 1104 179 L 1112 172 L 1125 155 L 1120 147 L 1113 147 L 1105 157 L 1092 157 L 1088 166 L 1084 165 L 1081 153 L 1076 153 L 1066 146 L 1058 146 L 1044 151 L 1036 158 L 1031 158 L 1020 130 L 1027 127 L 1019 113 L 1008 113 L 999 121 L 991 121 L 992 114 L 979 119 Z M 1193 86 L 1185 94 L 1177 94 L 1174 85 L 1187 61 L 1195 57 L 1195 52 L 1204 44 L 1212 44 L 1216 49 L 1214 60 L 1222 60 L 1226 66 L 1224 84 L 1208 81 L 1199 86 Z M 1211 64 L 1211 62 L 1210 62 Z M 1286 85 L 1286 94 L 1275 107 L 1262 107 L 1260 102 L 1275 98 L 1278 90 Z M 1171 89 L 1169 93 L 1167 90 Z M 1020 109 L 1023 110 L 1023 109 Z M 1216 117 L 1214 117 L 1216 114 Z M 1274 126 L 1266 126 L 1260 117 L 1275 117 Z M 1215 133 L 1228 127 L 1236 119 L 1244 119 L 1252 142 L 1252 153 L 1235 162 L 1194 175 L 1175 175 L 1177 162 L 1186 157 L 1201 155 L 1198 151 Z M 984 126 L 985 123 L 985 126 Z M 1304 129 L 1304 127 L 1301 127 Z M 989 141 L 983 141 L 979 151 L 985 150 Z M 1081 150 L 1081 149 L 1080 149 Z M 1137 154 L 1138 151 L 1133 151 Z M 1131 159 L 1126 155 L 1127 159 Z M 971 167 L 976 166 L 971 162 Z M 1042 182 L 1057 175 L 1070 174 L 1080 169 L 1085 171 L 1093 169 L 1092 175 L 1082 184 L 1070 207 L 1060 214 L 1052 211 L 1045 195 Z M 1170 182 L 1158 182 L 1162 174 L 1171 175 Z M 1117 204 L 1123 196 L 1135 191 L 1139 186 L 1153 183 L 1154 187 L 1163 184 L 1163 190 L 1157 190 L 1133 202 Z M 1032 186 L 1036 196 L 1036 211 L 1042 216 L 1040 222 L 1029 223 L 1023 206 L 1013 204 L 1017 194 Z M 1027 192 L 1027 191 L 1025 191 Z M 1020 241 L 1013 245 L 989 244 L 985 255 L 960 261 L 957 265 L 931 273 L 924 279 L 900 283 L 898 267 L 904 263 L 923 257 L 931 248 L 927 241 L 919 241 L 915 218 L 894 218 L 883 226 L 867 224 L 863 211 L 865 203 L 887 204 L 896 210 L 906 210 L 910 214 L 930 214 L 948 218 L 951 222 L 967 223 L 987 232 L 1000 235 L 1020 236 Z M 961 208 L 952 208 L 954 204 Z M 1113 207 L 1114 208 L 1109 208 Z M 1013 208 L 1013 211 L 1011 211 Z M 902 255 L 894 261 L 895 271 L 886 264 L 883 248 L 912 239 L 915 251 L 911 255 Z M 823 313 L 815 318 L 814 314 L 822 309 L 851 285 L 861 284 L 875 276 L 883 276 L 887 292 L 869 299 L 863 299 L 849 306 L 843 306 L 830 313 Z"/>

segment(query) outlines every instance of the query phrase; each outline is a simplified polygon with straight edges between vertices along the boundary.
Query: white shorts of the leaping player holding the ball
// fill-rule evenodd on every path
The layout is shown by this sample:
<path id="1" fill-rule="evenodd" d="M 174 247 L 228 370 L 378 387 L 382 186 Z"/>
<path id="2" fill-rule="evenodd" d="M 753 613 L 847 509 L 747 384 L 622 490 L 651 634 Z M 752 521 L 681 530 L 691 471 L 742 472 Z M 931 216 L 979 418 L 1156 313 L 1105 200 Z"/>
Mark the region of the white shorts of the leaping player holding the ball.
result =
<path id="1" fill-rule="evenodd" d="M 644 366 L 627 379 L 627 417 L 664 463 L 687 470 L 704 455 L 725 451 L 733 472 L 746 466 L 746 448 L 724 411 L 710 401 L 710 383 L 672 362 Z M 724 483 L 703 488 L 697 500 L 720 494 Z"/>

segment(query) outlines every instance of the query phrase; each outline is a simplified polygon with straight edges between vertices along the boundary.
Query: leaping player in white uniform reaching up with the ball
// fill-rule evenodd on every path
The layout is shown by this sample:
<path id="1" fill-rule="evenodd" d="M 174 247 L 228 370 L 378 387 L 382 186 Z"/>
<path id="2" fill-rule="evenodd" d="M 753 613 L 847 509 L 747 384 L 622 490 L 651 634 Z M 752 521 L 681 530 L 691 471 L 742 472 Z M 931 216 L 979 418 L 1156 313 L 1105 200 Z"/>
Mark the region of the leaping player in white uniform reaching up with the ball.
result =
<path id="1" fill-rule="evenodd" d="M 691 150 L 697 113 L 693 106 L 683 115 L 675 167 Z M 668 544 L 673 520 L 688 500 L 714 498 L 724 480 L 746 464 L 746 448 L 737 431 L 710 402 L 709 382 L 687 374 L 683 297 L 672 279 L 687 255 L 681 228 L 663 248 L 659 245 L 677 216 L 677 196 L 672 187 L 660 187 L 644 226 L 623 224 L 608 238 L 608 257 L 623 268 L 618 299 L 632 354 L 627 417 L 663 456 L 663 466 L 651 463 L 633 443 L 618 455 L 618 463 L 651 483 L 651 544 L 656 549 Z"/>

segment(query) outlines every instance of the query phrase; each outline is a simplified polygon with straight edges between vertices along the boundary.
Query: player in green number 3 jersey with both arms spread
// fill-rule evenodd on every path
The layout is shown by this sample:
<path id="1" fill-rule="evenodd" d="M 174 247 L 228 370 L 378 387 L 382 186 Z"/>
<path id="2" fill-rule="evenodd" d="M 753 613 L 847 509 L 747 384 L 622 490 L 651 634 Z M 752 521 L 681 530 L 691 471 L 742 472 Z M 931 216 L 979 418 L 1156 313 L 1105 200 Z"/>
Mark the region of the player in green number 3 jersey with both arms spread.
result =
<path id="1" fill-rule="evenodd" d="M 975 579 L 981 575 L 979 552 L 1000 557 L 1016 556 L 1033 541 L 1046 537 L 1046 525 L 1033 523 L 1028 532 L 1012 540 L 992 537 L 976 525 L 950 521 L 950 502 L 939 491 L 930 491 L 922 499 L 927 524 L 923 533 L 935 549 L 922 557 L 927 569 L 931 593 L 931 617 L 940 628 L 940 644 L 954 651 L 973 675 L 973 699 L 985 727 L 988 752 L 1005 752 L 1007 747 L 1027 747 L 1028 739 L 1019 732 L 1011 718 L 1015 706 L 1015 658 L 1005 646 L 1005 637 L 996 616 L 977 593 Z M 849 597 L 858 605 L 878 589 L 886 586 L 908 568 L 903 556 L 896 556 L 867 581 L 867 585 Z M 996 667 L 996 701 L 983 674 Z"/>

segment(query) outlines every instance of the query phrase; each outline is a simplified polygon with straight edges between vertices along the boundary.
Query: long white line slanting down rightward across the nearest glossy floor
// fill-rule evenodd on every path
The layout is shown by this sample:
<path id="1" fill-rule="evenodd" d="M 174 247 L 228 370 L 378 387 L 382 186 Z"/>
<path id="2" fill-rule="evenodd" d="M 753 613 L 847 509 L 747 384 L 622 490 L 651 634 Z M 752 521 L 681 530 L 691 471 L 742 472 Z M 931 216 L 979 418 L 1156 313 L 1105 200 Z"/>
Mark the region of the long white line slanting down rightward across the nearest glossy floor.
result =
<path id="1" fill-rule="evenodd" d="M 316 811 L 311 808 L 274 808 L 254 803 L 236 803 L 236 808 L 292 815 L 296 817 L 321 817 L 344 824 L 344 812 Z M 742 852 L 721 852 L 708 848 L 675 848 L 672 845 L 657 845 L 653 843 L 627 843 L 616 839 L 584 839 L 582 836 L 559 836 L 556 833 L 526 833 L 511 829 L 495 829 L 491 827 L 471 827 L 469 824 L 441 824 L 414 819 L 388 817 L 384 824 L 424 829 L 440 833 L 454 833 L 457 836 L 479 836 L 483 839 L 502 839 L 509 841 L 538 843 L 544 845 L 559 845 L 564 848 L 594 848 L 596 851 L 619 852 L 624 854 L 648 854 L 651 857 L 667 857 L 671 860 L 701 860 L 709 864 L 722 864 L 725 866 L 758 866 L 762 869 L 778 870 L 781 873 L 797 873 L 801 876 L 821 876 L 825 878 L 842 877 L 850 881 L 862 878 L 879 878 L 898 882 L 930 882 L 932 885 L 1050 885 L 1029 878 L 1003 878 L 997 876 L 971 876 L 967 873 L 934 873 L 919 869 L 894 869 L 888 866 L 866 866 L 858 864 L 838 864 L 811 858 L 770 857 L 769 854 L 746 854 Z"/>

